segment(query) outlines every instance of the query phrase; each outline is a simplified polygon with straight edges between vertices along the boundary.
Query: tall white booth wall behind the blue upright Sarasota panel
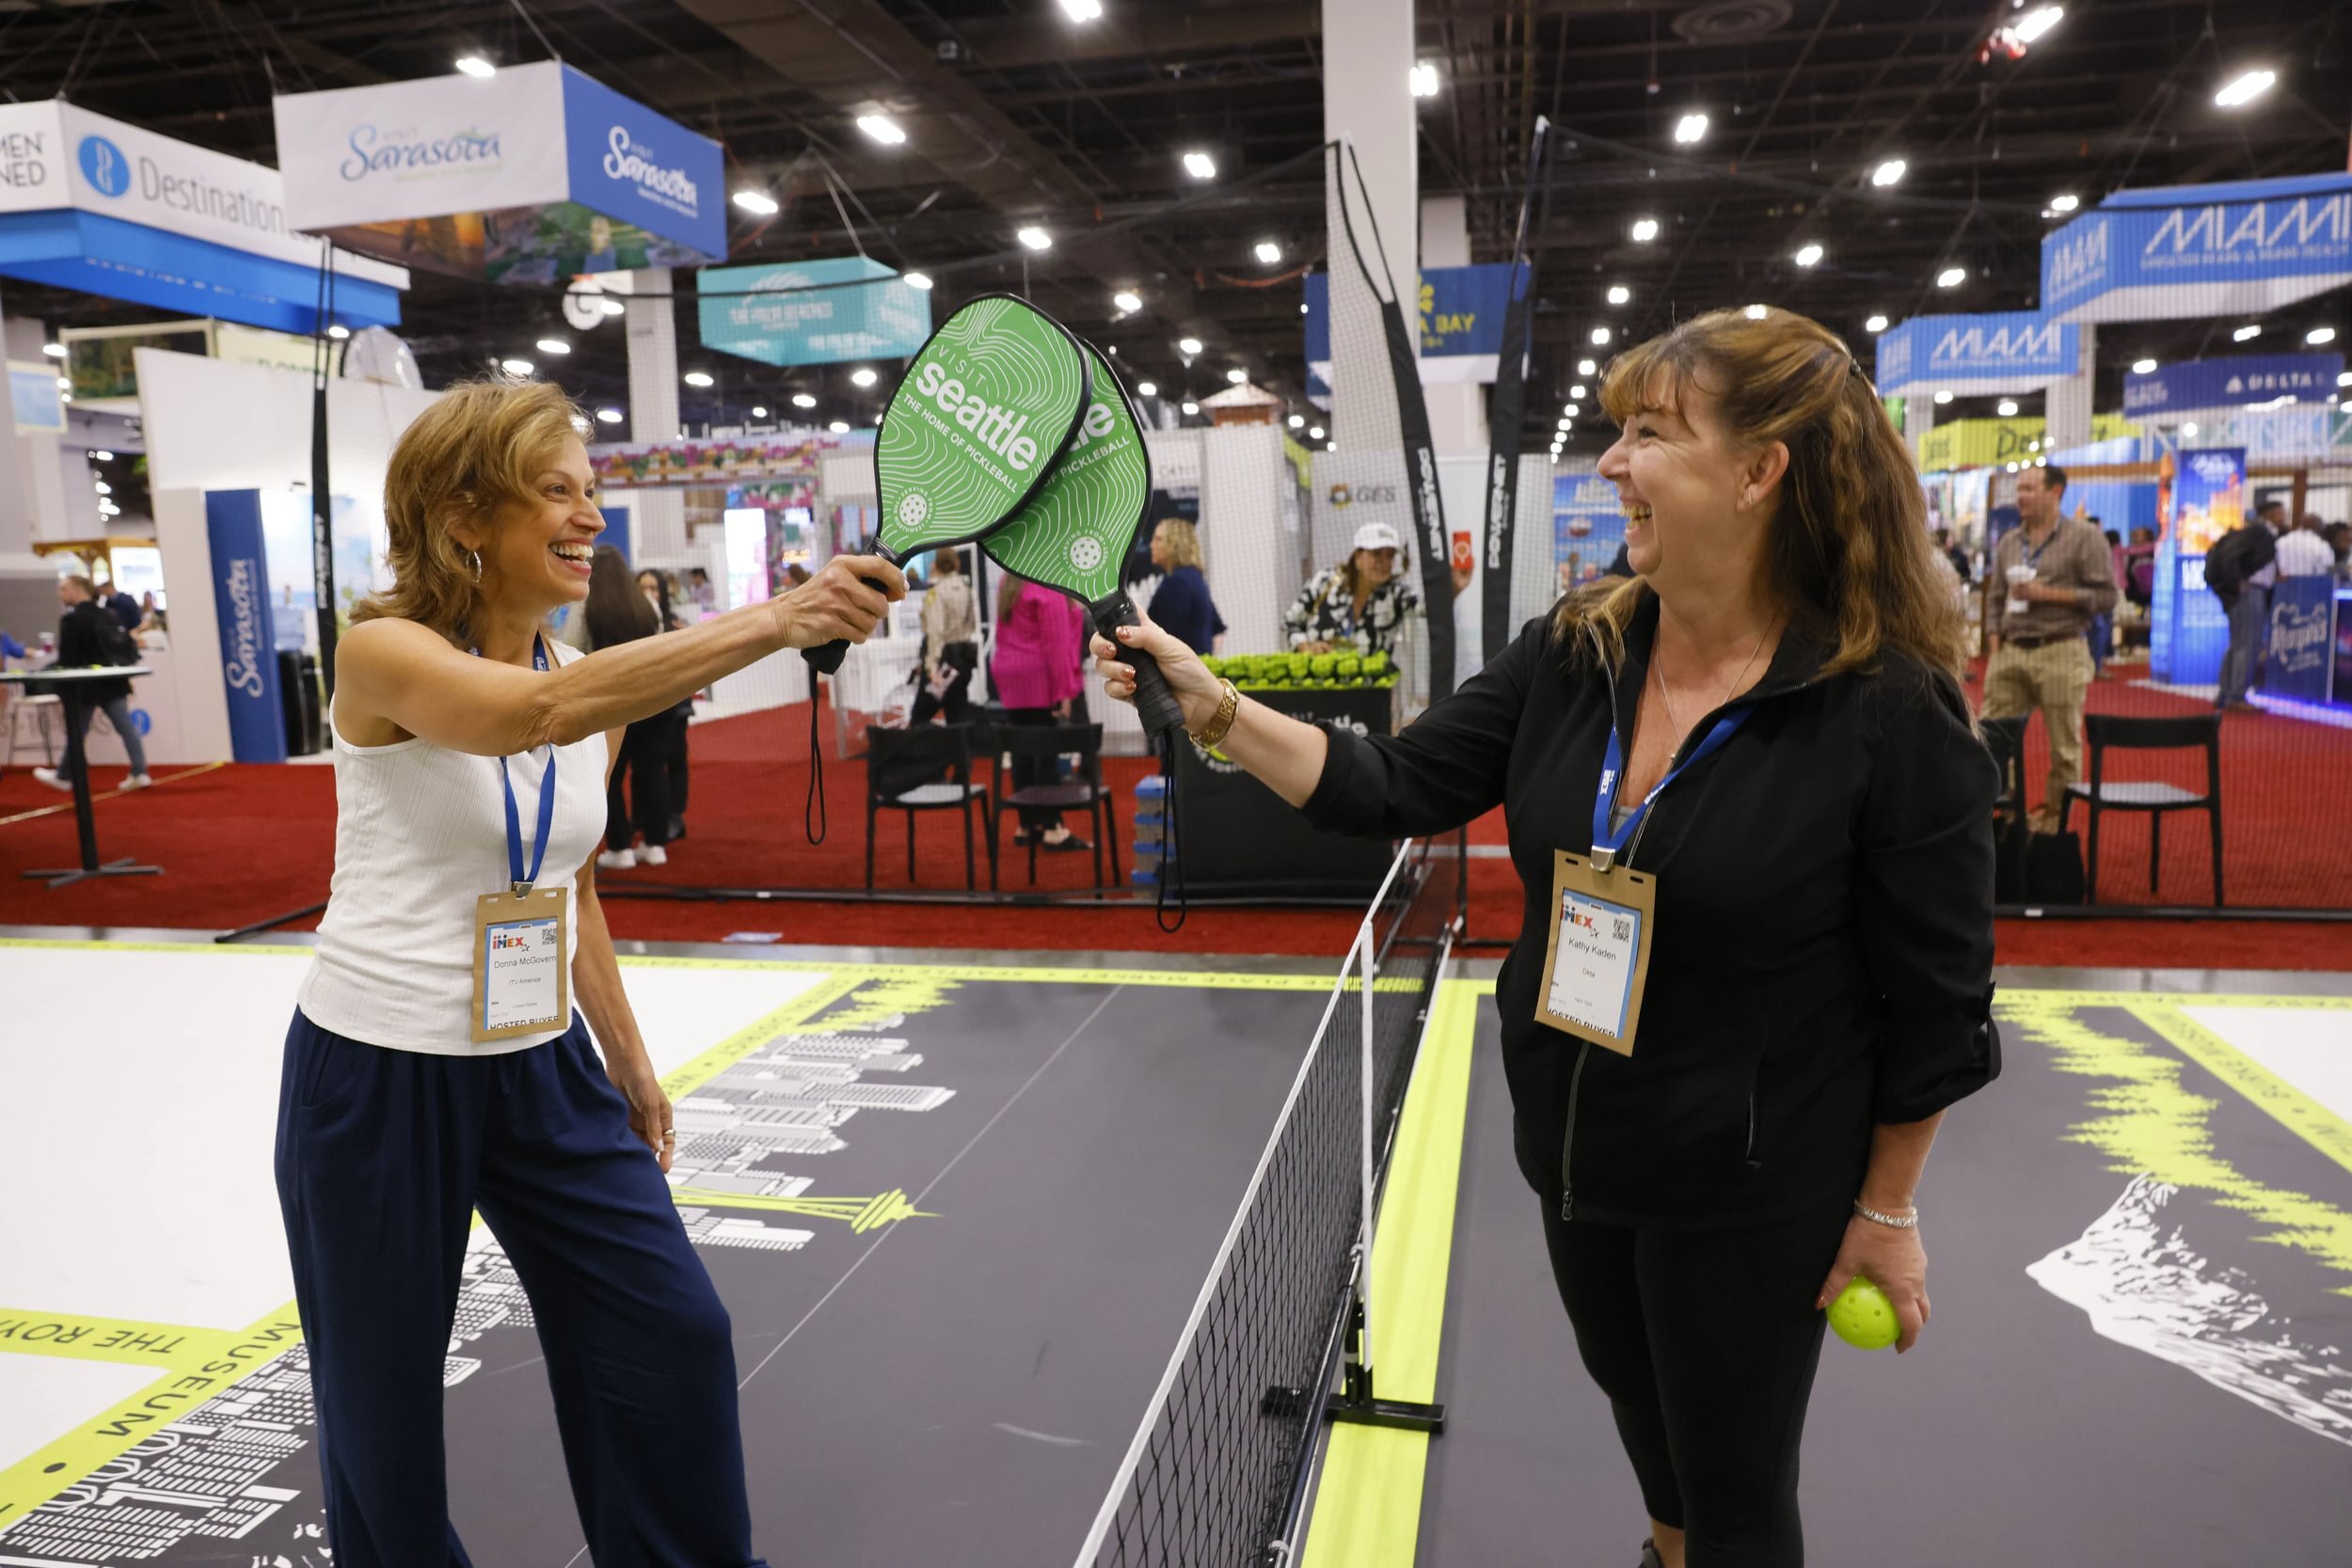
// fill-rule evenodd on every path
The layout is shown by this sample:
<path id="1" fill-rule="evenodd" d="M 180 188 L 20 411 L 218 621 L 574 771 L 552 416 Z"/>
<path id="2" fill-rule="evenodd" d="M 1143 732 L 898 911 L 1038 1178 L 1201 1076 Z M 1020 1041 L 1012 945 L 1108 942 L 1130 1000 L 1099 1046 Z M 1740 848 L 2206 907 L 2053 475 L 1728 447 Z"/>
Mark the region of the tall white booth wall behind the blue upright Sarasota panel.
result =
<path id="1" fill-rule="evenodd" d="M 155 675 L 136 682 L 134 703 L 153 719 L 148 762 L 228 762 L 228 689 L 205 494 L 252 489 L 308 503 L 310 378 L 153 348 L 141 348 L 136 362 L 172 646 L 146 656 Z M 393 442 L 435 397 L 372 381 L 336 378 L 327 388 L 329 482 L 339 505 L 350 508 L 350 520 L 365 522 L 369 536 L 383 531 Z M 113 736 L 92 736 L 92 757 L 120 762 L 122 748 Z"/>

